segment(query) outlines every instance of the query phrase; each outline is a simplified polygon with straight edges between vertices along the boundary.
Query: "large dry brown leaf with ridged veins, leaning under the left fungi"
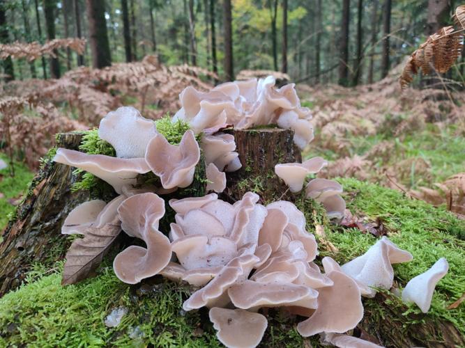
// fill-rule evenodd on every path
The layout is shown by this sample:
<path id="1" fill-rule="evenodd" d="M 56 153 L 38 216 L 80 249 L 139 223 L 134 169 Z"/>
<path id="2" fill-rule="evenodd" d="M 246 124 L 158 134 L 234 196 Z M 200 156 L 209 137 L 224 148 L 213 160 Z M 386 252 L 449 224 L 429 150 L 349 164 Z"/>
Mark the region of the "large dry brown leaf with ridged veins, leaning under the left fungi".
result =
<path id="1" fill-rule="evenodd" d="M 121 232 L 119 223 L 107 223 L 102 228 L 88 228 L 84 238 L 76 239 L 66 253 L 62 285 L 75 284 L 96 269 L 109 247 Z"/>

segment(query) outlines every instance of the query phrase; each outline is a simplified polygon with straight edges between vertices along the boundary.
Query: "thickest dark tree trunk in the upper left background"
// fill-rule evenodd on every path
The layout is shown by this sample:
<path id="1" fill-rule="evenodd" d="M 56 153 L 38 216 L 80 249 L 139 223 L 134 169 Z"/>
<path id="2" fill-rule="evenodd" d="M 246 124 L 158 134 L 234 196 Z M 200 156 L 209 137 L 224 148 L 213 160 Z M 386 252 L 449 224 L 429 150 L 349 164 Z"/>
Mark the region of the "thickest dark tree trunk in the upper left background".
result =
<path id="1" fill-rule="evenodd" d="M 86 0 L 89 18 L 89 41 L 92 51 L 93 68 L 105 68 L 112 65 L 109 51 L 107 20 L 105 19 L 105 1 Z"/>

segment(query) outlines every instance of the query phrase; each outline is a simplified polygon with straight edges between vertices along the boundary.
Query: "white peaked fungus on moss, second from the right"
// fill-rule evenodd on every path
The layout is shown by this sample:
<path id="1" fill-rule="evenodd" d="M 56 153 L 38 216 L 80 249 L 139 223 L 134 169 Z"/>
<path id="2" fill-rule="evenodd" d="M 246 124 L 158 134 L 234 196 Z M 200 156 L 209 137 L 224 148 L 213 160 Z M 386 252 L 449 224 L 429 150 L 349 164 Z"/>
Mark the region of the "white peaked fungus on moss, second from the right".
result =
<path id="1" fill-rule="evenodd" d="M 365 254 L 343 264 L 342 271 L 369 287 L 390 289 L 394 280 L 391 264 L 408 262 L 412 258 L 411 253 L 398 248 L 388 237 L 382 237 Z"/>

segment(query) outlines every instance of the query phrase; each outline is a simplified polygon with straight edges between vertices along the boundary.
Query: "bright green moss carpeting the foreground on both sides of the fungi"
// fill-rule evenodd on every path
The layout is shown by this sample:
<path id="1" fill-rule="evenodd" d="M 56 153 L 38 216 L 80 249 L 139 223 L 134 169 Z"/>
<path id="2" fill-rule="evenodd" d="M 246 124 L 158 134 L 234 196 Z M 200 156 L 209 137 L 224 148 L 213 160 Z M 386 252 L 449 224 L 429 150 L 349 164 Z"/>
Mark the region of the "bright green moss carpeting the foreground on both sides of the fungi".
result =
<path id="1" fill-rule="evenodd" d="M 375 299 L 364 299 L 365 315 L 376 318 L 379 325 L 383 325 L 383 306 L 391 306 L 404 313 L 401 326 L 418 322 L 452 322 L 465 335 L 464 304 L 447 309 L 465 292 L 465 242 L 459 239 L 465 235 L 465 222 L 441 208 L 410 200 L 390 189 L 357 180 L 343 179 L 341 182 L 349 209 L 369 219 L 381 219 L 392 242 L 413 254 L 413 261 L 395 265 L 395 281 L 399 287 L 425 271 L 438 258 L 445 257 L 450 264 L 449 273 L 437 285 L 432 308 L 426 315 L 419 315 L 418 308 L 405 305 L 389 292 Z M 320 248 L 319 260 L 330 255 L 338 262 L 346 262 L 376 242 L 376 237 L 360 230 L 330 225 L 321 207 L 311 200 L 297 204 L 305 210 L 308 230 L 314 230 L 315 223 L 323 225 L 328 240 L 339 249 L 333 253 Z M 114 276 L 109 264 L 100 267 L 96 278 L 62 287 L 60 271 L 61 264 L 51 274 L 36 267 L 29 283 L 0 299 L 0 346 L 219 346 L 206 310 L 191 313 L 181 310 L 181 303 L 190 292 L 188 287 L 157 278 L 142 287 L 125 285 Z M 383 302 L 380 302 L 381 295 L 386 296 Z M 128 308 L 128 314 L 119 326 L 107 328 L 105 317 L 119 306 Z M 293 318 L 270 310 L 268 322 L 262 341 L 264 347 L 302 347 L 306 344 L 296 332 Z M 142 334 L 131 338 L 135 328 Z M 317 338 L 310 342 L 314 347 L 318 345 Z"/>

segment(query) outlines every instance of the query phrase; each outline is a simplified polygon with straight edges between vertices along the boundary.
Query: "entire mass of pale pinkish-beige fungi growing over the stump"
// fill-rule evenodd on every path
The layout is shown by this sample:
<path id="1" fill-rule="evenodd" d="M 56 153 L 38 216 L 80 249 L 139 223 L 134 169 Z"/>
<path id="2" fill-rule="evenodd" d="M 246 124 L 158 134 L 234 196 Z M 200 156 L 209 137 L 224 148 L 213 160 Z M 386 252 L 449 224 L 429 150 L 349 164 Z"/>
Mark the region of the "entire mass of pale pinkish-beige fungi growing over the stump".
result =
<path id="1" fill-rule="evenodd" d="M 261 205 L 252 192 L 234 204 L 218 198 L 227 184 L 225 172 L 241 168 L 234 136 L 218 132 L 225 125 L 277 123 L 295 130 L 300 148 L 312 139 L 310 111 L 300 107 L 294 85 L 275 89 L 274 84 L 268 77 L 222 84 L 208 93 L 186 88 L 180 96 L 183 107 L 173 121 L 186 120 L 191 129 L 179 144 L 169 143 L 155 123 L 134 108 L 109 113 L 100 123 L 99 136 L 115 148 L 116 157 L 59 149 L 54 160 L 100 177 L 118 196 L 109 203 L 91 200 L 79 205 L 62 232 L 84 235 L 75 243 L 87 237 L 93 247 L 105 247 L 119 230 L 141 239 L 145 247 L 132 245 L 116 255 L 116 276 L 135 284 L 158 274 L 194 285 L 198 290 L 183 303 L 183 310 L 209 308 L 218 339 L 227 347 L 259 344 L 268 326 L 262 308 L 303 317 L 297 330 L 305 337 L 321 334 L 338 347 L 376 347 L 343 333 L 363 318 L 361 296 L 392 287 L 392 264 L 411 260 L 408 251 L 383 237 L 346 264 L 323 258 L 322 271 L 314 263 L 317 241 L 294 203 Z M 196 134 L 201 134 L 199 142 Z M 169 200 L 174 220 L 169 231 L 161 231 L 167 200 L 163 195 L 192 184 L 201 152 L 207 189 L 215 193 Z M 296 193 L 308 175 L 326 164 L 314 157 L 302 164 L 276 164 L 275 173 Z M 159 178 L 159 187 L 137 185 L 137 176 L 149 172 Z M 314 178 L 305 187 L 305 196 L 319 201 L 334 218 L 344 214 L 341 193 L 341 185 L 331 180 Z M 444 262 L 411 280 L 402 298 L 427 310 L 434 285 L 447 271 Z M 418 298 L 418 293 L 425 294 Z"/>

